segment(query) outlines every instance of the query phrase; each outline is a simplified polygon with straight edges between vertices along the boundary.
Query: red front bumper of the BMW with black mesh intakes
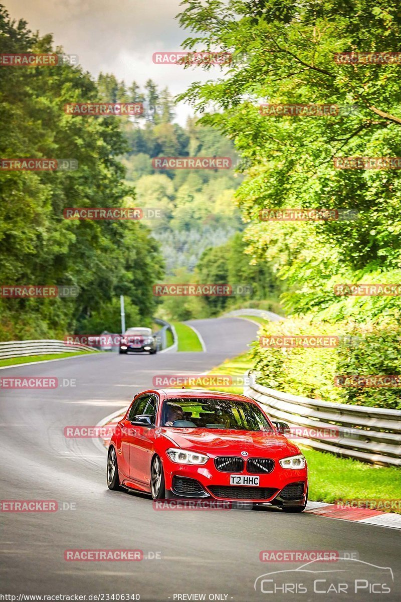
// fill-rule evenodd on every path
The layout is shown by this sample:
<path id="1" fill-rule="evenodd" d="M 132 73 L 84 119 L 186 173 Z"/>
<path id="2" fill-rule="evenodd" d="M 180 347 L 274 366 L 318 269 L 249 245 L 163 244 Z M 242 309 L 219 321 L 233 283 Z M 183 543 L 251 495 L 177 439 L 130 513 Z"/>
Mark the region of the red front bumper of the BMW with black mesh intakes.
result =
<path id="1" fill-rule="evenodd" d="M 210 468 L 208 467 L 210 463 Z M 164 461 L 166 497 L 246 501 L 274 506 L 302 506 L 308 488 L 307 468 L 290 470 L 278 462 L 271 473 L 259 474 L 259 486 L 230 485 L 230 473 L 215 469 L 213 461 L 204 466 L 186 466 Z M 248 475 L 243 471 L 243 475 Z M 256 476 L 252 474 L 249 476 Z M 196 485 L 198 483 L 198 486 Z M 249 495 L 248 495 L 249 492 Z"/>

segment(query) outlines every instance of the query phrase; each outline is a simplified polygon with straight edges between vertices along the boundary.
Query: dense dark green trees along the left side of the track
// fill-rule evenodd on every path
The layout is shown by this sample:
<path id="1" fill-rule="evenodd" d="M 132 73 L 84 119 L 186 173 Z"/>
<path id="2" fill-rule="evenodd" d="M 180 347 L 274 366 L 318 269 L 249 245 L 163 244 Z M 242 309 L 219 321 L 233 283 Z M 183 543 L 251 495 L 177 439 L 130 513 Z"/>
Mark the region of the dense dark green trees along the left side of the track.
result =
<path id="1" fill-rule="evenodd" d="M 0 6 L 0 52 L 55 50 L 51 36 L 11 22 Z M 73 158 L 74 171 L 0 171 L 0 282 L 75 285 L 75 298 L 0 298 L 0 340 L 62 338 L 74 330 L 119 332 L 119 296 L 127 322 L 150 321 L 152 285 L 163 259 L 138 222 L 65 220 L 69 206 L 132 206 L 119 157 L 129 150 L 118 119 L 73 117 L 67 102 L 99 101 L 88 73 L 57 67 L 2 67 L 0 156 Z"/>

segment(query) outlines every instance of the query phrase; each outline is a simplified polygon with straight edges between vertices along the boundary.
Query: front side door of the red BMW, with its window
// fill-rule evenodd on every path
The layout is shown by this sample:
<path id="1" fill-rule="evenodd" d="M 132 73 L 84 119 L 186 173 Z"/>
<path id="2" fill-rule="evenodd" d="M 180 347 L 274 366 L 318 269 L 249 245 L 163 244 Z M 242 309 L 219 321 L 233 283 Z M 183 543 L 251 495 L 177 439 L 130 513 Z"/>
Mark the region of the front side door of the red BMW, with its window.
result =
<path id="1" fill-rule="evenodd" d="M 158 398 L 148 395 L 144 410 L 139 415 L 147 416 L 152 426 L 135 423 L 132 444 L 130 445 L 130 476 L 142 485 L 150 484 L 150 464 L 155 450 L 155 420 L 158 411 Z M 138 416 L 138 414 L 136 414 Z M 135 417 L 134 417 L 135 421 Z"/>

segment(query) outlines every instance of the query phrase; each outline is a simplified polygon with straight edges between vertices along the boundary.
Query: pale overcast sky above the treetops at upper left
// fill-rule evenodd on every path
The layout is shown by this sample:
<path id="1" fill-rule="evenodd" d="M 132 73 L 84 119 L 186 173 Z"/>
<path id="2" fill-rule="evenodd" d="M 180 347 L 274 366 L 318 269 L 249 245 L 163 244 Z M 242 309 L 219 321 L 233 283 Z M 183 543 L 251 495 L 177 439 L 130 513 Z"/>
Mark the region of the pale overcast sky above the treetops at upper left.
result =
<path id="1" fill-rule="evenodd" d="M 175 19 L 183 7 L 179 0 L 1 0 L 10 16 L 25 19 L 40 34 L 52 33 L 55 44 L 67 54 L 78 54 L 79 63 L 97 77 L 100 71 L 114 73 L 126 84 L 133 80 L 143 88 L 148 78 L 171 93 L 182 92 L 192 82 L 218 76 L 218 67 L 208 73 L 200 67 L 156 65 L 153 52 L 178 51 L 188 37 Z M 188 105 L 177 110 L 185 123 Z"/>

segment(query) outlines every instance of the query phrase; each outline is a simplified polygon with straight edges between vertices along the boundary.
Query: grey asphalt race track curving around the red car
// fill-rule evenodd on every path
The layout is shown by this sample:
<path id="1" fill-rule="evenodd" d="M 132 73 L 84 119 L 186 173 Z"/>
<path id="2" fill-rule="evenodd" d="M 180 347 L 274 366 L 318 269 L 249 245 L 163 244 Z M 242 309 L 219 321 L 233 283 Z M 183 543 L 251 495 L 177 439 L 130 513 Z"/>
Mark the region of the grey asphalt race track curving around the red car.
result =
<path id="1" fill-rule="evenodd" d="M 76 379 L 76 386 L 49 391 L 0 389 L 0 497 L 75 504 L 75 510 L 54 513 L 0 513 L 0 594 L 139 594 L 140 600 L 155 602 L 202 599 L 194 594 L 235 602 L 400 600 L 399 531 L 310 514 L 283 514 L 269 507 L 156 511 L 145 495 L 107 489 L 106 455 L 93 439 L 64 436 L 66 426 L 97 424 L 127 405 L 133 394 L 152 386 L 154 374 L 200 373 L 237 355 L 257 330 L 255 324 L 236 318 L 192 324 L 204 339 L 206 353 L 103 353 L 0 371 L 2 377 L 55 376 L 61 384 L 63 379 Z M 148 558 L 141 562 L 64 560 L 64 550 L 77 548 L 140 549 Z M 347 593 L 320 594 L 313 592 L 312 585 L 305 593 L 299 592 L 298 585 L 298 592 L 279 590 L 274 595 L 262 593 L 259 585 L 254 589 L 257 577 L 302 563 L 263 563 L 261 550 L 355 551 L 362 562 L 352 563 L 351 568 L 345 563 L 314 565 L 314 570 L 331 571 L 316 589 L 325 591 L 340 574 L 343 582 L 351 584 Z M 161 558 L 150 558 L 152 553 Z M 370 565 L 393 569 L 394 583 L 388 570 Z M 341 573 L 332 573 L 340 568 Z M 366 579 L 369 586 L 353 593 L 354 577 Z M 289 573 L 287 580 L 305 584 L 308 579 L 310 574 Z M 390 594 L 369 593 L 371 583 L 383 580 L 390 585 Z M 263 589 L 269 588 L 270 582 L 265 582 Z"/>

